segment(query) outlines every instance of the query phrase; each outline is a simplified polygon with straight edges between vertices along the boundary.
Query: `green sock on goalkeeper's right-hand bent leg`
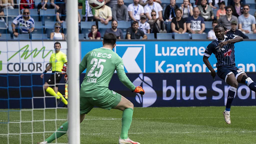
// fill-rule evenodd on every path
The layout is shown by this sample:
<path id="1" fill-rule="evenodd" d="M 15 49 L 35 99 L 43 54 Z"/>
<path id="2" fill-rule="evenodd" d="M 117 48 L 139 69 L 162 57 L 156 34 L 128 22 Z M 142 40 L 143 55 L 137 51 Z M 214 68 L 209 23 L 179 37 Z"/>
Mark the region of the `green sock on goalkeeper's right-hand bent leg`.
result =
<path id="1" fill-rule="evenodd" d="M 121 139 L 127 139 L 128 138 L 128 130 L 130 129 L 131 123 L 132 123 L 132 115 L 133 115 L 133 109 L 132 108 L 126 108 L 123 111 L 122 116 L 122 130 L 121 130 Z"/>

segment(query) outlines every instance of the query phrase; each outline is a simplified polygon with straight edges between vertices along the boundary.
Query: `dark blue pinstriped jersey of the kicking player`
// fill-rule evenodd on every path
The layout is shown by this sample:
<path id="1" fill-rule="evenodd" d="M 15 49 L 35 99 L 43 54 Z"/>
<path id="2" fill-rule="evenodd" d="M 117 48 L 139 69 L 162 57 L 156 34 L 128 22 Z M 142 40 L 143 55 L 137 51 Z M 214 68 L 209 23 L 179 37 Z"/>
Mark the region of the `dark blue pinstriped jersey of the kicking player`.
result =
<path id="1" fill-rule="evenodd" d="M 224 36 L 224 40 L 216 40 L 212 41 L 206 48 L 204 55 L 210 57 L 213 53 L 217 59 L 216 67 L 223 66 L 223 65 L 236 65 L 235 64 L 235 46 L 234 43 L 228 43 L 220 48 L 218 45 L 221 42 L 227 41 L 229 39 L 233 39 L 238 37 L 237 35 L 226 35 Z"/>

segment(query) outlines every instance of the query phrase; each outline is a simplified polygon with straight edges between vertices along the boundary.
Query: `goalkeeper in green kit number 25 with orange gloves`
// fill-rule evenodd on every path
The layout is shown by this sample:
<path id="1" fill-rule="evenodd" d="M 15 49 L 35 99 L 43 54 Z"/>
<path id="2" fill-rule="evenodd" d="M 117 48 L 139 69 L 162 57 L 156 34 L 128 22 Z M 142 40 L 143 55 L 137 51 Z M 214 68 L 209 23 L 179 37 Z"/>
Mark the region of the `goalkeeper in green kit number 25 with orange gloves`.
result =
<path id="1" fill-rule="evenodd" d="M 119 144 L 140 144 L 128 138 L 133 115 L 133 104 L 113 90 L 109 90 L 109 82 L 117 71 L 120 81 L 131 91 L 144 94 L 144 89 L 135 87 L 124 72 L 123 61 L 118 54 L 113 52 L 116 46 L 116 36 L 112 33 L 103 37 L 103 47 L 93 49 L 82 59 L 79 69 L 80 74 L 86 70 L 80 89 L 80 122 L 94 106 L 103 109 L 119 109 L 123 111 L 122 128 Z M 63 67 L 65 71 L 65 67 Z M 56 138 L 64 135 L 68 130 L 68 122 L 64 123 L 57 132 L 53 133 L 46 141 L 40 144 L 50 143 Z"/>

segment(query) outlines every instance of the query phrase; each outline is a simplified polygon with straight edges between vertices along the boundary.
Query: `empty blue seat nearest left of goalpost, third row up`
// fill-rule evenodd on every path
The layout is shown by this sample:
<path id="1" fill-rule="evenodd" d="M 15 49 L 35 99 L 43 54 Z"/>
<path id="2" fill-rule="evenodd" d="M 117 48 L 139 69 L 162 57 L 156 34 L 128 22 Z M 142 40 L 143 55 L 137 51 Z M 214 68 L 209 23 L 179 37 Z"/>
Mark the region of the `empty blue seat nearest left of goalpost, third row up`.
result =
<path id="1" fill-rule="evenodd" d="M 47 10 L 40 9 L 40 19 L 43 25 L 45 24 L 46 21 L 54 22 L 56 19 L 55 9 L 47 9 Z"/>

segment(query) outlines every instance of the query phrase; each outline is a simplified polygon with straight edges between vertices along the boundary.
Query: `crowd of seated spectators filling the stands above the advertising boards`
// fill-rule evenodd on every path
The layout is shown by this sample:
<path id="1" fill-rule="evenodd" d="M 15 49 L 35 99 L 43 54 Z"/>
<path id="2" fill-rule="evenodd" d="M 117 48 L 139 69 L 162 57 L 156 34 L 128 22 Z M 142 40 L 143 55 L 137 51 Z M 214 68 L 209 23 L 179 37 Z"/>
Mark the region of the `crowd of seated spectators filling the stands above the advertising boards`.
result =
<path id="1" fill-rule="evenodd" d="M 49 39 L 65 39 L 66 33 L 62 28 L 66 21 L 66 1 L 41 0 L 35 5 L 34 0 L 0 0 L 0 22 L 8 25 L 8 15 L 4 13 L 4 9 L 18 9 L 20 15 L 14 17 L 12 24 L 7 27 L 11 27 L 14 37 L 19 34 L 33 34 L 35 22 L 43 21 L 43 18 L 33 18 L 30 15 L 31 9 L 37 9 L 38 15 L 53 9 L 56 23 L 52 26 Z M 250 14 L 250 8 L 255 9 L 255 4 L 251 7 L 245 0 L 227 2 L 183 0 L 183 3 L 177 4 L 176 0 L 170 0 L 170 3 L 163 4 L 161 0 L 133 0 L 133 3 L 125 4 L 124 0 L 105 0 L 104 6 L 95 10 L 89 6 L 88 0 L 78 0 L 78 8 L 82 9 L 78 12 L 78 22 L 81 28 L 80 22 L 95 21 L 95 24 L 90 23 L 88 37 L 84 35 L 89 39 L 101 39 L 106 33 L 113 33 L 118 39 L 147 39 L 147 34 L 150 33 L 155 38 L 157 33 L 172 33 L 173 38 L 176 34 L 188 34 L 190 37 L 192 34 L 204 34 L 208 39 L 216 39 L 213 29 L 217 24 L 227 27 L 226 34 L 243 38 L 248 38 L 248 34 L 256 34 L 256 12 L 254 15 Z M 125 33 L 118 28 L 120 22 L 130 23 Z M 99 32 L 100 23 L 109 26 L 104 33 Z M 206 28 L 209 23 L 212 29 Z"/>

